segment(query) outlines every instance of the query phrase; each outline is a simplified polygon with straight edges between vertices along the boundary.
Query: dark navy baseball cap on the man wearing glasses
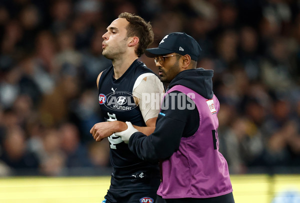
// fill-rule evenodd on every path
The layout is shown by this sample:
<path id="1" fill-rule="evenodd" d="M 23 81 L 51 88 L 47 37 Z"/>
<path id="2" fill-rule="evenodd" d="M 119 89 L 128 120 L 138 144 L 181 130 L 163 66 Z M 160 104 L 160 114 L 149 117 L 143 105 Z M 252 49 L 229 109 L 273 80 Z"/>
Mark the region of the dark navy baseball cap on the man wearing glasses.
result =
<path id="1" fill-rule="evenodd" d="M 201 51 L 200 45 L 189 35 L 170 33 L 161 40 L 157 48 L 146 49 L 145 55 L 154 58 L 170 53 L 188 54 L 192 60 L 197 61 Z"/>

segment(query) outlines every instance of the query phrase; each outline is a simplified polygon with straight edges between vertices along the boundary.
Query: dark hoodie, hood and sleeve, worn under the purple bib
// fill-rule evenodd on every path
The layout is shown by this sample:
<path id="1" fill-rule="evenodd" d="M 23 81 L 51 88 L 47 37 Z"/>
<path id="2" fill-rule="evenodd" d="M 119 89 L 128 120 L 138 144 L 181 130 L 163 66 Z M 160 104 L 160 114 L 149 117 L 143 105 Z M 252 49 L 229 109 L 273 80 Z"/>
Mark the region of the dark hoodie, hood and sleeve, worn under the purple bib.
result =
<path id="1" fill-rule="evenodd" d="M 211 99 L 212 70 L 202 68 L 182 71 L 170 82 L 168 89 L 175 85 L 183 85 L 206 99 Z M 172 95 L 171 95 L 172 94 Z M 194 102 L 178 91 L 166 95 L 156 120 L 156 127 L 150 136 L 141 132 L 132 134 L 129 139 L 129 149 L 140 159 L 155 161 L 168 158 L 179 147 L 181 137 L 193 135 L 199 127 L 199 112 Z M 171 95 L 171 96 L 170 96 Z M 183 101 L 185 100 L 185 101 Z M 193 105 L 195 108 L 178 108 L 182 104 Z M 172 108 L 171 108 L 172 107 Z"/>

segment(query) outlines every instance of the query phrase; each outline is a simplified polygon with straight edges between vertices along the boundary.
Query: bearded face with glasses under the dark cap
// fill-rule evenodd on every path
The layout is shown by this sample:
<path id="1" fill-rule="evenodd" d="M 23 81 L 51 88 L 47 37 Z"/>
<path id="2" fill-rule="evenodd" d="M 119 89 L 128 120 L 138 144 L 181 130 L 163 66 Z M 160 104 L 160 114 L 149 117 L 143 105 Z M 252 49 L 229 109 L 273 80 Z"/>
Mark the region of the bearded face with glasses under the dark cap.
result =
<path id="1" fill-rule="evenodd" d="M 176 56 L 175 56 L 176 55 Z M 163 60 L 156 60 L 155 65 L 158 68 L 158 74 L 161 82 L 169 83 L 180 72 L 178 54 L 172 53 L 165 55 Z M 174 56 L 174 57 L 172 57 Z"/>

